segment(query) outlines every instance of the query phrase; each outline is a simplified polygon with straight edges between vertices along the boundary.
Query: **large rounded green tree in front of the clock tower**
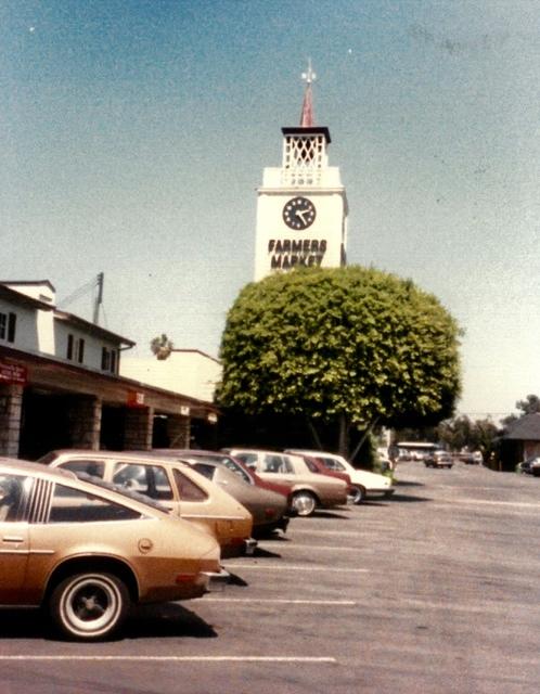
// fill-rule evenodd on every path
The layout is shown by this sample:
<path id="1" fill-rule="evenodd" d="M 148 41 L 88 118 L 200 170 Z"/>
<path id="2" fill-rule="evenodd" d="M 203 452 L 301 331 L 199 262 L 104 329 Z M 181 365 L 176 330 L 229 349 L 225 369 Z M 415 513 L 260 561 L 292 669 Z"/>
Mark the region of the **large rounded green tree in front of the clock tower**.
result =
<path id="1" fill-rule="evenodd" d="M 350 428 L 436 424 L 460 389 L 460 329 L 438 299 L 374 269 L 298 269 L 246 285 L 221 342 L 219 401 Z"/>

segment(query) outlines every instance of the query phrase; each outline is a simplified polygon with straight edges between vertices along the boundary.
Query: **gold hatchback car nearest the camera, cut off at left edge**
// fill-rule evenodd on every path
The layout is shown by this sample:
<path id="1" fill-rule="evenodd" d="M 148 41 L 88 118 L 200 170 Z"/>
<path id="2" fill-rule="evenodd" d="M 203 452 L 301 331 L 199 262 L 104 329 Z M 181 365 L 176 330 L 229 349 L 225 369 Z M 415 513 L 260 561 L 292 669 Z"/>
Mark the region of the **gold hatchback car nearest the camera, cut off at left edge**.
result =
<path id="1" fill-rule="evenodd" d="M 226 582 L 215 538 L 137 493 L 0 458 L 0 604 L 46 607 L 67 638 L 118 631 L 136 603 Z"/>

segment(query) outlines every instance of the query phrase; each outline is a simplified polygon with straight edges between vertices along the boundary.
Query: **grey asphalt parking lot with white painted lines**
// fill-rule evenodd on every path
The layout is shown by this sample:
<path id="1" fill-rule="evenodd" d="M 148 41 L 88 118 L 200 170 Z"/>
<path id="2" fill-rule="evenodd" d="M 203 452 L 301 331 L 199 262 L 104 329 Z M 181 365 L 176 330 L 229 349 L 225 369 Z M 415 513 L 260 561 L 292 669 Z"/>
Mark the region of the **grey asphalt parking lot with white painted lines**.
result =
<path id="1" fill-rule="evenodd" d="M 391 500 L 296 518 L 223 593 L 53 641 L 0 612 L 0 693 L 504 693 L 540 689 L 540 480 L 406 463 Z"/>

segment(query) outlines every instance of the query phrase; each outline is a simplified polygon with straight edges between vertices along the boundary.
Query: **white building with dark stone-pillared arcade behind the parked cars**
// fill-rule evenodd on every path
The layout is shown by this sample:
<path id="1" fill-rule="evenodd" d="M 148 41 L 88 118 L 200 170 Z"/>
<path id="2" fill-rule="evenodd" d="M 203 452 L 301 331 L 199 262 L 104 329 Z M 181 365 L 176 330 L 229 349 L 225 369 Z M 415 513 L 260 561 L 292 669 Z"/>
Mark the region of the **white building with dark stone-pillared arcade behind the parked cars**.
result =
<path id="1" fill-rule="evenodd" d="M 171 440 L 188 448 L 193 425 L 208 444 L 217 421 L 210 386 L 200 399 L 182 393 L 181 378 L 151 385 L 119 375 L 120 355 L 133 345 L 57 309 L 48 280 L 0 282 L 0 455 L 146 450 Z M 202 393 L 190 377 L 209 376 L 197 360 L 195 367 L 183 376 L 188 389 Z"/>

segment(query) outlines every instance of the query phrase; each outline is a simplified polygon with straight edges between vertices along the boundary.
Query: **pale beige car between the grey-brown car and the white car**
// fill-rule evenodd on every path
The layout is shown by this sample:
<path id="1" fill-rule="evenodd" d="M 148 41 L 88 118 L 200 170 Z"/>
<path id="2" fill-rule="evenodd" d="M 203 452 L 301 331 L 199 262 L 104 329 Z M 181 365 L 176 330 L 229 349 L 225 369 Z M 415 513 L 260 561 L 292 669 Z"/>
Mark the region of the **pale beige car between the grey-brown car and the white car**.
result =
<path id="1" fill-rule="evenodd" d="M 292 507 L 299 516 L 310 516 L 318 507 L 347 503 L 347 484 L 312 473 L 299 455 L 244 448 L 231 448 L 229 453 L 253 467 L 262 479 L 288 485 Z"/>

